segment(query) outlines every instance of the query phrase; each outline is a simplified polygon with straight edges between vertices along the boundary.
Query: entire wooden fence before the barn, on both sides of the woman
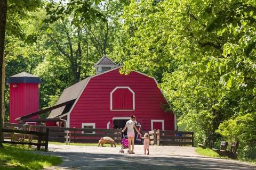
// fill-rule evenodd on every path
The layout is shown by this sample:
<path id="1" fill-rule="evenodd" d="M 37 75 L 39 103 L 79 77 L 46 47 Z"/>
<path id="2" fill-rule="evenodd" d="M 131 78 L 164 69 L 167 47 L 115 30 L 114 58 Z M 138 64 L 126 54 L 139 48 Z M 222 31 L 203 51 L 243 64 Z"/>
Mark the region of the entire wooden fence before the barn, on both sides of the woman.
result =
<path id="1" fill-rule="evenodd" d="M 81 143 L 98 143 L 102 137 L 110 137 L 115 140 L 116 143 L 120 143 L 122 139 L 122 129 L 90 129 L 90 128 L 61 128 L 57 126 L 41 126 L 41 125 L 23 125 L 15 123 L 5 123 L 5 127 L 16 127 L 26 129 L 45 131 L 49 129 L 49 141 L 55 142 L 81 142 Z M 10 129 L 8 130 L 10 131 Z M 18 132 L 16 130 L 16 132 Z M 34 132 L 29 132 L 33 134 Z M 37 132 L 42 134 L 43 132 Z M 191 145 L 194 146 L 194 132 L 186 131 L 162 131 L 153 130 L 149 131 L 149 138 L 153 145 Z M 5 135 L 6 137 L 8 134 Z M 35 140 L 45 140 L 45 137 L 38 135 L 34 137 Z"/>

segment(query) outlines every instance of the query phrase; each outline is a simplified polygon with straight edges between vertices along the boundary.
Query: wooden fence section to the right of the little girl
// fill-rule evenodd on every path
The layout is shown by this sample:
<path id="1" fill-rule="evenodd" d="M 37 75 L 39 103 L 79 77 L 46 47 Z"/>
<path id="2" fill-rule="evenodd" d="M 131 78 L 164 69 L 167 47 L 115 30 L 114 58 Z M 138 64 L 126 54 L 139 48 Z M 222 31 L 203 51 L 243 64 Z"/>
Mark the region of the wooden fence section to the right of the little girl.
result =
<path id="1" fill-rule="evenodd" d="M 186 131 L 149 131 L 149 138 L 154 145 L 175 145 L 175 146 L 194 146 L 194 132 Z"/>

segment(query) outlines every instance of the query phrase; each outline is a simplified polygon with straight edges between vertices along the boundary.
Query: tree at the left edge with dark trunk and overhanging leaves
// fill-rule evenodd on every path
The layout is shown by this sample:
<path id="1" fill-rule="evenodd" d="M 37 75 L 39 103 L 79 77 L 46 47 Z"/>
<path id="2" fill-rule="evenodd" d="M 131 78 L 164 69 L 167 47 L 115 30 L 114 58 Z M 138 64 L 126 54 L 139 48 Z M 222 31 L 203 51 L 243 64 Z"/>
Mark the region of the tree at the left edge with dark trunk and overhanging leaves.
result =
<path id="1" fill-rule="evenodd" d="M 0 1 L 0 70 L 1 70 L 1 118 L 0 118 L 0 146 L 2 146 L 2 128 L 4 125 L 4 91 L 5 91 L 5 57 L 7 53 L 4 53 L 5 45 L 5 32 L 9 32 L 10 35 L 15 35 L 17 37 L 26 39 L 27 41 L 34 40 L 33 36 L 27 36 L 22 32 L 20 18 L 26 17 L 26 12 L 34 11 L 39 5 L 41 5 L 41 0 L 38 1 L 11 1 L 7 3 L 7 0 Z M 7 7 L 8 6 L 8 7 Z M 6 20 L 7 18 L 7 20 Z"/>

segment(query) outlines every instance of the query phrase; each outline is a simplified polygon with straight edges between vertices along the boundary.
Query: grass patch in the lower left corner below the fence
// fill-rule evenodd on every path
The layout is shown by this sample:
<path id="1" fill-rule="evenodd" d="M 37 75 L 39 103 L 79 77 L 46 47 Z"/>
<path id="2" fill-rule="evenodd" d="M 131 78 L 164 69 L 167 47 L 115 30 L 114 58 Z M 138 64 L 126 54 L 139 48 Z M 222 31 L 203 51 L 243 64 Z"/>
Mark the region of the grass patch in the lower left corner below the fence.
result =
<path id="1" fill-rule="evenodd" d="M 62 162 L 60 157 L 40 155 L 31 152 L 31 149 L 4 145 L 0 148 L 0 169 L 36 170 L 43 169 Z"/>

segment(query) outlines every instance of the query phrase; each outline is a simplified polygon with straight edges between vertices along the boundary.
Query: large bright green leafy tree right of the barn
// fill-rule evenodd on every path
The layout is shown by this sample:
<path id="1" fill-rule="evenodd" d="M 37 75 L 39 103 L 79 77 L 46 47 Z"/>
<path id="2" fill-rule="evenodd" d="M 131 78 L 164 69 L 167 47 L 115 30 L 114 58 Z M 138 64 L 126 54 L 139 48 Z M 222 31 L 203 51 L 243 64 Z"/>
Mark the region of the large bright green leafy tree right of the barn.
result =
<path id="1" fill-rule="evenodd" d="M 161 74 L 180 123 L 212 147 L 225 138 L 221 131 L 230 132 L 226 121 L 255 115 L 255 9 L 243 0 L 131 1 L 123 15 L 126 40 L 116 52 L 126 59 L 121 72 Z M 239 151 L 253 150 L 249 136 Z"/>

